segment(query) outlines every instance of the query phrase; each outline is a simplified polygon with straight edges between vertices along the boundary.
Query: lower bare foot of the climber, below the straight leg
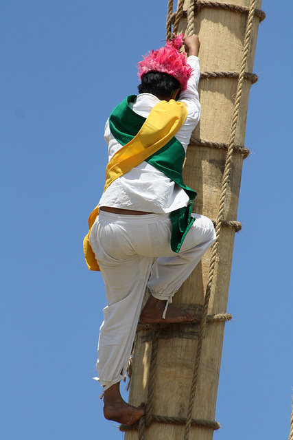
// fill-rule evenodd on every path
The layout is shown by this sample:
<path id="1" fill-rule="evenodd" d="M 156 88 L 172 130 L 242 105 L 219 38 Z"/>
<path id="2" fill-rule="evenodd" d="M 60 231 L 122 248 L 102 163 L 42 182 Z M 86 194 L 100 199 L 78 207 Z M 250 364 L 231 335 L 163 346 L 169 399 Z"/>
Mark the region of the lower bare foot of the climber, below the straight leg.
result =
<path id="1" fill-rule="evenodd" d="M 126 403 L 122 399 L 119 383 L 110 386 L 104 393 L 104 417 L 123 425 L 132 425 L 145 414 L 145 404 L 138 407 Z"/>

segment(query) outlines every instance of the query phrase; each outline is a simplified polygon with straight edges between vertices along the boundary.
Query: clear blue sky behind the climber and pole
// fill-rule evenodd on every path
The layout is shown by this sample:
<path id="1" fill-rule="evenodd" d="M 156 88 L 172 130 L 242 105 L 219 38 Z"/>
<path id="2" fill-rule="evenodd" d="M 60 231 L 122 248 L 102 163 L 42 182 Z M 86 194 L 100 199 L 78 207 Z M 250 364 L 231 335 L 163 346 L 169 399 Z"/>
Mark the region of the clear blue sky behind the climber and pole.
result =
<path id="1" fill-rule="evenodd" d="M 218 390 L 217 440 L 288 437 L 292 410 L 292 17 L 263 0 Z M 167 0 L 2 0 L 1 431 L 122 439 L 95 358 L 104 285 L 82 239 L 104 187 L 104 123 L 163 45 Z"/>

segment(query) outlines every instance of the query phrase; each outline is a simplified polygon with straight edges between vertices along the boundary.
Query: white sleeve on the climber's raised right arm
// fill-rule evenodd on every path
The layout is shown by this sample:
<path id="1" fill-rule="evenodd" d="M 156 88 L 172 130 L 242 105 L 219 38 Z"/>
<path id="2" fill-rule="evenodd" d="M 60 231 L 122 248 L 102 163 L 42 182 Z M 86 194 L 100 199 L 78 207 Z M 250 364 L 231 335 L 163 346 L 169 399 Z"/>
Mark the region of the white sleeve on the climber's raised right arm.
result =
<path id="1" fill-rule="evenodd" d="M 197 56 L 191 55 L 187 58 L 187 63 L 192 67 L 193 74 L 187 83 L 187 89 L 180 94 L 179 101 L 187 105 L 187 118 L 183 126 L 176 133 L 176 139 L 187 148 L 191 133 L 196 128 L 200 120 L 200 100 L 198 96 L 198 82 L 200 80 L 200 60 Z"/>

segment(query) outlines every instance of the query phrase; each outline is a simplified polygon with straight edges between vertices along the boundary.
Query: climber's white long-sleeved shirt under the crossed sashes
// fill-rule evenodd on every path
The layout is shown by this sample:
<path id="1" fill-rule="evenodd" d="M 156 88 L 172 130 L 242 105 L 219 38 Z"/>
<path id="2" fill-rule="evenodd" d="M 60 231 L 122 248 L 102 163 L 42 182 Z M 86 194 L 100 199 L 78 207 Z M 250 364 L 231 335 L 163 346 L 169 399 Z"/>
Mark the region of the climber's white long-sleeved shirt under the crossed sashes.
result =
<path id="1" fill-rule="evenodd" d="M 187 118 L 176 133 L 176 139 L 183 145 L 185 152 L 189 144 L 192 131 L 200 120 L 200 102 L 198 97 L 198 81 L 200 79 L 200 61 L 197 56 L 189 56 L 187 63 L 193 69 L 189 78 L 187 89 L 180 94 L 179 101 L 187 104 Z M 150 111 L 159 102 L 159 98 L 152 94 L 139 94 L 130 104 L 132 110 L 148 118 Z M 109 129 L 108 120 L 105 126 L 105 140 L 108 144 L 108 160 L 122 147 Z M 193 189 L 193 188 L 192 188 Z M 164 173 L 154 168 L 147 162 L 132 168 L 128 173 L 118 177 L 106 189 L 101 199 L 100 206 L 111 206 L 137 211 L 166 213 L 187 206 L 189 197 L 185 190 L 175 184 Z"/>

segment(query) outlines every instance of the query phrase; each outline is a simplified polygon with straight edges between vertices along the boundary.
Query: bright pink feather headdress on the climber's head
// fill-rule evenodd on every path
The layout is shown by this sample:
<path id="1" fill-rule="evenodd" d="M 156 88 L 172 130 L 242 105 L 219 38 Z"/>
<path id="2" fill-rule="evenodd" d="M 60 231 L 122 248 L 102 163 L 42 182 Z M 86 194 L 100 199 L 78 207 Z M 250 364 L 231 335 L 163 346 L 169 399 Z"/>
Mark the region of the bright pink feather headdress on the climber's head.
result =
<path id="1" fill-rule="evenodd" d="M 192 69 L 187 64 L 187 58 L 179 52 L 183 45 L 184 34 L 175 36 L 167 41 L 161 49 L 152 50 L 143 56 L 143 61 L 138 63 L 139 79 L 148 72 L 164 72 L 174 76 L 179 81 L 181 91 L 187 88 L 187 81 L 192 75 Z"/>

